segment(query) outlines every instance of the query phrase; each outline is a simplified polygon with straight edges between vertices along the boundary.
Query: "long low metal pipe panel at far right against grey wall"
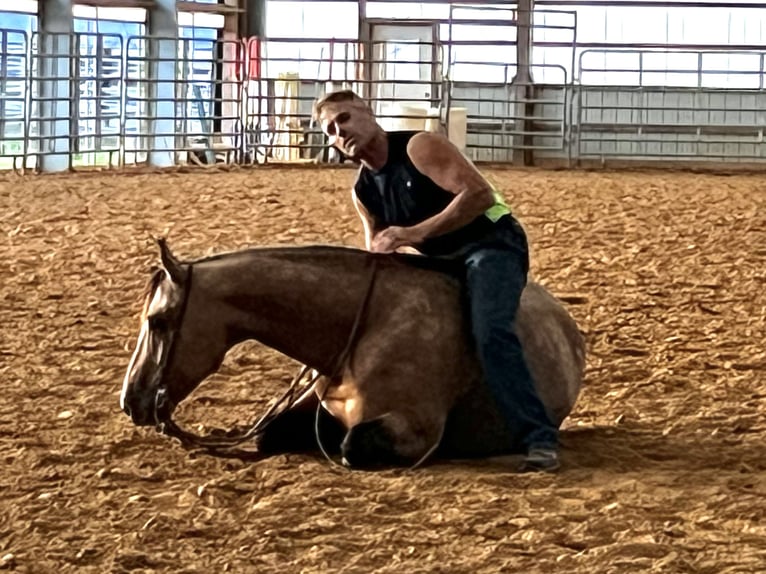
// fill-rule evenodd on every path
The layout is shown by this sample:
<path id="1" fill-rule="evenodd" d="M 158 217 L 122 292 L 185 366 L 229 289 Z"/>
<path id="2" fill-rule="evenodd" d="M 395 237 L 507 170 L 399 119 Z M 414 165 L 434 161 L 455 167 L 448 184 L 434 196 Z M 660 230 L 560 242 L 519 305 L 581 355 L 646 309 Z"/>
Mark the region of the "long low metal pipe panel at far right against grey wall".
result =
<path id="1" fill-rule="evenodd" d="M 752 161 L 766 157 L 766 92 L 579 87 L 576 156 Z"/>

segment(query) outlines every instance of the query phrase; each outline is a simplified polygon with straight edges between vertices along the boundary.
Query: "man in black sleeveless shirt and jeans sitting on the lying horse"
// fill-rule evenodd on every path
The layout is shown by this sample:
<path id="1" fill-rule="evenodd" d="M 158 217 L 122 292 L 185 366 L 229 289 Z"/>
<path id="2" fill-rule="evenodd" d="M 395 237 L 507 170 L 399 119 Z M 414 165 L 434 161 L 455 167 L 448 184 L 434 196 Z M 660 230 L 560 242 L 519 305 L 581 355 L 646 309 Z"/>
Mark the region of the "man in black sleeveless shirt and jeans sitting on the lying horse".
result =
<path id="1" fill-rule="evenodd" d="M 535 390 L 513 330 L 527 280 L 521 225 L 476 167 L 443 135 L 386 132 L 349 90 L 314 105 L 330 143 L 360 163 L 353 202 L 368 250 L 412 247 L 464 264 L 471 327 L 485 379 L 526 449 L 522 471 L 559 467 L 558 429 Z"/>

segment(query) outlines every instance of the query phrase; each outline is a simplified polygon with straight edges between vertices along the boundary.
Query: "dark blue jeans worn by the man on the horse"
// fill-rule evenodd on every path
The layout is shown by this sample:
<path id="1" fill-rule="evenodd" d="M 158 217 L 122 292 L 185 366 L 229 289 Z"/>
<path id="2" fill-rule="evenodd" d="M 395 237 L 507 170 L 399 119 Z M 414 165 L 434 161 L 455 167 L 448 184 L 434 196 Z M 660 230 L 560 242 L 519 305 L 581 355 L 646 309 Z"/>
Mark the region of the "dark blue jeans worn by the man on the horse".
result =
<path id="1" fill-rule="evenodd" d="M 522 446 L 557 448 L 551 422 L 532 382 L 514 330 L 529 253 L 518 223 L 508 245 L 477 246 L 465 258 L 466 286 L 474 343 L 484 378 L 509 431 Z"/>

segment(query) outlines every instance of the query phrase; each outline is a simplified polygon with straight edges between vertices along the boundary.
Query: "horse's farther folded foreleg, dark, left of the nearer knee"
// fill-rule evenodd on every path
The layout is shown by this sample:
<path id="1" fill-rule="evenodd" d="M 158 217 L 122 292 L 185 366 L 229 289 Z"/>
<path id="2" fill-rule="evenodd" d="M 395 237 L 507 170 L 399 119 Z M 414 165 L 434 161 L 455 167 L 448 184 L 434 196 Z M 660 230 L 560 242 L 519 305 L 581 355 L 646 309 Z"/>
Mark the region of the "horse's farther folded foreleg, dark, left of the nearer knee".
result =
<path id="1" fill-rule="evenodd" d="M 317 438 L 317 409 L 319 409 L 319 437 Z M 332 415 L 319 406 L 319 399 L 311 388 L 293 406 L 277 415 L 256 438 L 258 450 L 268 454 L 311 452 L 318 450 L 317 440 L 327 452 L 338 452 L 346 429 Z"/>

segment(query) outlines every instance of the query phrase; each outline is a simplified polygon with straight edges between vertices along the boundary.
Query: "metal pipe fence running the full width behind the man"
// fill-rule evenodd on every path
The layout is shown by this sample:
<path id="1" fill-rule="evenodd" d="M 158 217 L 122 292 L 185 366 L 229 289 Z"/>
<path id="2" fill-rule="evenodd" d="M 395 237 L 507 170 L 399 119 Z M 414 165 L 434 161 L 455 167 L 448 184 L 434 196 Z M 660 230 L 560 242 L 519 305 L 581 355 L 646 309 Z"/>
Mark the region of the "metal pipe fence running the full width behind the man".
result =
<path id="1" fill-rule="evenodd" d="M 339 88 L 387 129 L 443 131 L 476 161 L 766 157 L 766 50 L 589 49 L 573 79 L 448 62 L 448 45 L 0 29 L 0 169 L 343 161 L 312 117 Z"/>

